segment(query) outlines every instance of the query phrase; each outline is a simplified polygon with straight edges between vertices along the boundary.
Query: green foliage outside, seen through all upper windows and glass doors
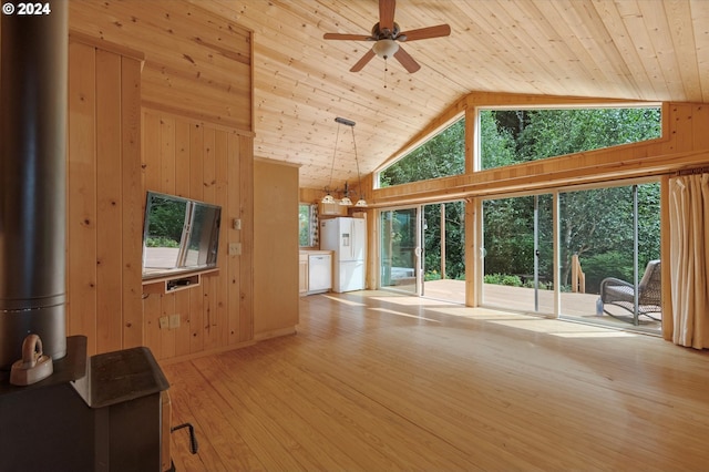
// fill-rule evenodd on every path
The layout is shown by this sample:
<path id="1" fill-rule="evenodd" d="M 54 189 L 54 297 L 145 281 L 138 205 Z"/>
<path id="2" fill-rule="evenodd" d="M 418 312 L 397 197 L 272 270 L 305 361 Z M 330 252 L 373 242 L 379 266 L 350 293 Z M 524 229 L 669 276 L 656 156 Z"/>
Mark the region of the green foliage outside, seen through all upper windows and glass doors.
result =
<path id="1" fill-rule="evenodd" d="M 482 170 L 564 154 L 635 143 L 660 136 L 660 109 L 487 110 L 480 114 Z M 381 173 L 381 186 L 399 185 L 465 171 L 465 123 L 454 123 Z M 551 287 L 553 267 L 553 198 L 541 195 L 538 214 L 538 270 Z M 587 291 L 600 279 L 633 278 L 633 187 L 608 187 L 559 195 L 561 285 L 571 283 L 571 260 L 579 256 Z M 425 205 L 423 257 L 427 277 L 442 276 L 441 228 L 445 227 L 445 277 L 464 279 L 464 204 Z M 485 277 L 507 280 L 534 271 L 535 198 L 515 197 L 483 204 Z M 409 220 L 394 222 L 392 244 L 399 250 L 394 265 L 412 267 L 414 240 Z M 659 257 L 659 185 L 638 186 L 640 269 Z M 398 228 L 398 229 L 397 229 Z M 404 236 L 409 235 L 409 236 Z M 404 240 L 407 239 L 407 240 Z M 411 259 L 411 260 L 410 260 Z M 510 279 L 507 279 L 508 277 Z M 430 278 L 429 278 L 430 279 Z M 520 285 L 522 283 L 520 281 Z"/>

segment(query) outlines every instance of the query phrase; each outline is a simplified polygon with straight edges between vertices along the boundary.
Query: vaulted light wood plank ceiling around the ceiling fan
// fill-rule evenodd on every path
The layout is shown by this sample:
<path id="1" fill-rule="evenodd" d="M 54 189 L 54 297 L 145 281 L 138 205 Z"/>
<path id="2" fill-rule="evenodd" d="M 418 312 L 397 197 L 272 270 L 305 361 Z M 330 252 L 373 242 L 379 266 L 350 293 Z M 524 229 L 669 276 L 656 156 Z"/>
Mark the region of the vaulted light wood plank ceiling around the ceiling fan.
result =
<path id="1" fill-rule="evenodd" d="M 709 102 L 707 0 L 399 0 L 401 30 L 448 23 L 404 43 L 421 70 L 374 58 L 349 69 L 377 0 L 191 0 L 254 31 L 255 154 L 301 165 L 300 186 L 356 183 L 473 91 Z"/>

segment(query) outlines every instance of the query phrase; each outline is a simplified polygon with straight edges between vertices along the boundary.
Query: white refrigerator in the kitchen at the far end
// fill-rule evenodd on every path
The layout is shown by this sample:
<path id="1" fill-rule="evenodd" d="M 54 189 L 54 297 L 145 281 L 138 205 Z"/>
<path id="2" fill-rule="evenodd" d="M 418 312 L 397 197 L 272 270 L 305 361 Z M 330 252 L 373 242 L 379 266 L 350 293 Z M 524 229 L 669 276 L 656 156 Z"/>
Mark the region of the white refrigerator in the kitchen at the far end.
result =
<path id="1" fill-rule="evenodd" d="M 340 217 L 320 222 L 320 249 L 332 250 L 332 291 L 364 289 L 367 220 Z"/>

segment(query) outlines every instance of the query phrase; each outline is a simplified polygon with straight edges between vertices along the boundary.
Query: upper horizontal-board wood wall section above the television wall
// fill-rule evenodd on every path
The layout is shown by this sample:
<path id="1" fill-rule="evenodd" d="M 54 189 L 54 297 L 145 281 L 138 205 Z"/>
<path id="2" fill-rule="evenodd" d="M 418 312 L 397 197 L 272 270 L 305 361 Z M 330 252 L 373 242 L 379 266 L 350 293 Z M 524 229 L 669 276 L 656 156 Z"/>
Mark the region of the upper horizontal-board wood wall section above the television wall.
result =
<path id="1" fill-rule="evenodd" d="M 251 32 L 183 0 L 70 0 L 70 28 L 145 53 L 143 105 L 253 132 Z"/>

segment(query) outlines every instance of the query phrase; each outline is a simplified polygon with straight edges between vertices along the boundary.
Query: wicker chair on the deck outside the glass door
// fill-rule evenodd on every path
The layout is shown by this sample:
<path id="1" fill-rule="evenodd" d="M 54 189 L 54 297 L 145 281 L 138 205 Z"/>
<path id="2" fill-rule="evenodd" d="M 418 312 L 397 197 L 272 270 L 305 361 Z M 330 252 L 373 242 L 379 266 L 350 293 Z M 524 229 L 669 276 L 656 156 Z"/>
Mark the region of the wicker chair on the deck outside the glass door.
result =
<path id="1" fill-rule="evenodd" d="M 638 316 L 645 315 L 654 320 L 660 320 L 660 261 L 650 260 L 638 284 Z M 600 283 L 600 300 L 605 314 L 616 317 L 606 309 L 606 305 L 624 308 L 635 316 L 635 290 L 633 284 L 615 277 L 607 277 Z"/>

